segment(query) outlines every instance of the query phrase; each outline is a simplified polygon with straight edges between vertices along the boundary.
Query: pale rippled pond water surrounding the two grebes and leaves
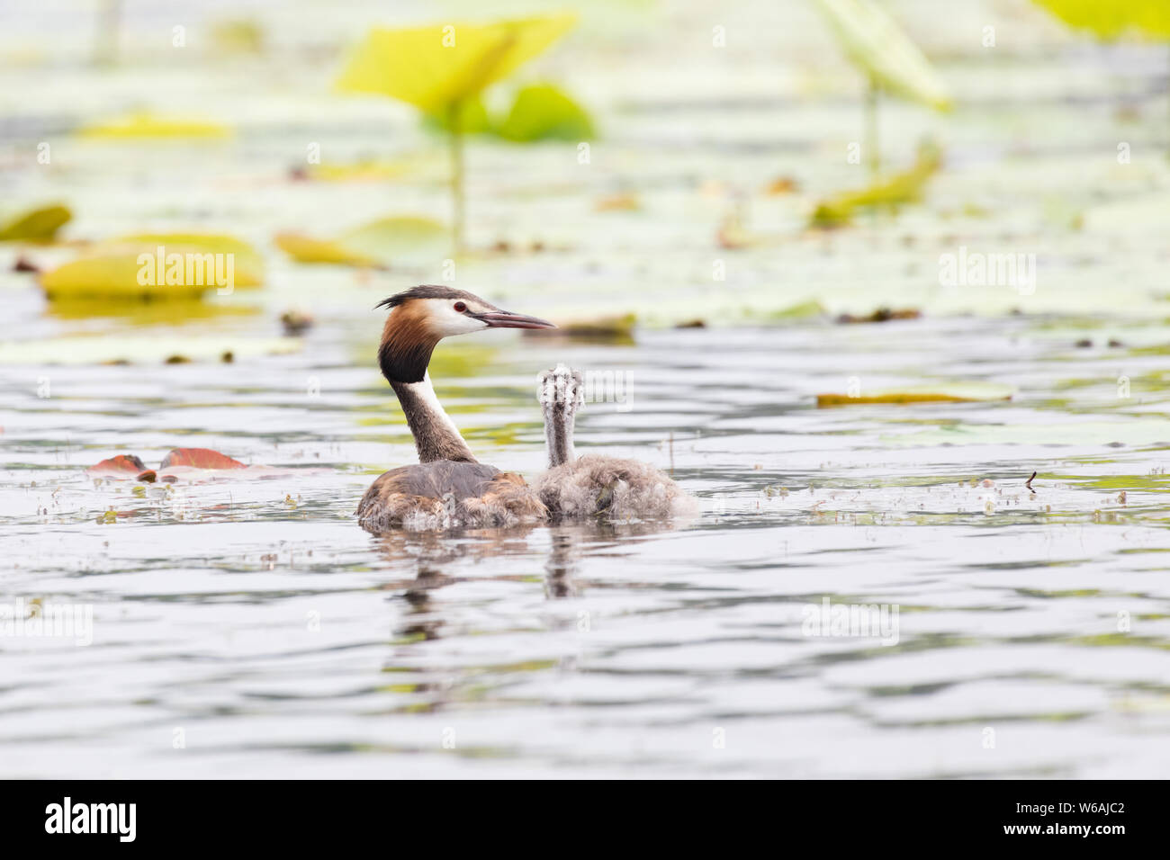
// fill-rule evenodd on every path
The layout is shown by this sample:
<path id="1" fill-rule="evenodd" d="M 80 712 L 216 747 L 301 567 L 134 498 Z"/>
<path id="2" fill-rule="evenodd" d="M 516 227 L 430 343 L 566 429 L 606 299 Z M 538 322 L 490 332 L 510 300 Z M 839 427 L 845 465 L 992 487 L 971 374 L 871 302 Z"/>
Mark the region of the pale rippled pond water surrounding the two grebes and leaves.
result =
<path id="1" fill-rule="evenodd" d="M 343 18 L 364 22 L 358 7 Z M 807 36 L 807 9 L 764 8 L 752 14 L 773 35 L 805 34 L 777 36 L 792 62 L 831 50 Z M 322 20 L 284 20 L 281 49 Z M 544 463 L 537 372 L 565 362 L 615 380 L 586 405 L 578 445 L 670 470 L 700 500 L 679 523 L 357 527 L 369 483 L 414 460 L 372 307 L 442 281 L 442 260 L 305 267 L 269 240 L 388 211 L 443 216 L 443 161 L 408 111 L 329 96 L 312 44 L 250 89 L 253 67 L 136 57 L 87 83 L 83 104 L 88 69 L 57 66 L 35 110 L 11 95 L 29 67 L 4 67 L 0 104 L 22 117 L 0 172 L 14 199 L 68 200 L 78 236 L 239 234 L 264 248 L 268 284 L 70 312 L 11 271 L 19 253 L 51 264 L 69 249 L 0 249 L 0 601 L 92 607 L 83 647 L 0 639 L 0 775 L 1166 773 L 1170 170 L 1142 154 L 1164 137 L 1164 53 L 1102 55 L 1021 26 L 1034 54 L 989 68 L 978 47 L 916 30 L 969 106 L 940 119 L 890 103 L 888 157 L 906 163 L 931 132 L 948 167 L 920 207 L 823 234 L 804 229 L 811 202 L 865 181 L 842 156 L 860 122 L 834 90 L 848 69 L 810 83 L 757 36 L 672 70 L 672 90 L 680 32 L 697 28 L 697 44 L 710 23 L 675 13 L 627 66 L 603 62 L 636 23 L 593 22 L 543 67 L 608 130 L 591 165 L 573 146 L 470 145 L 479 250 L 453 283 L 519 312 L 640 324 L 600 340 L 457 338 L 432 376 L 477 455 L 528 476 Z M 67 136 L 129 104 L 144 69 L 180 94 L 177 110 L 214 111 L 239 137 Z M 1007 80 L 1026 83 L 1005 95 Z M 1119 124 L 1141 154 L 1124 167 Z M 23 129 L 60 135 L 51 170 L 15 164 Z M 289 180 L 309 142 L 424 166 L 390 184 Z M 796 193 L 760 191 L 782 176 Z M 640 209 L 599 211 L 619 192 Z M 736 214 L 750 241 L 731 249 L 717 232 Z M 1034 289 L 940 285 L 940 255 L 964 246 L 1037 254 Z M 923 315 L 833 322 L 882 305 Z M 316 324 L 285 338 L 294 307 Z M 696 318 L 708 325 L 673 328 Z M 942 383 L 1012 397 L 815 399 Z M 137 487 L 85 474 L 119 453 L 156 467 L 174 447 L 277 470 Z M 885 606 L 893 626 L 823 635 L 832 625 L 808 621 L 826 600 Z"/>

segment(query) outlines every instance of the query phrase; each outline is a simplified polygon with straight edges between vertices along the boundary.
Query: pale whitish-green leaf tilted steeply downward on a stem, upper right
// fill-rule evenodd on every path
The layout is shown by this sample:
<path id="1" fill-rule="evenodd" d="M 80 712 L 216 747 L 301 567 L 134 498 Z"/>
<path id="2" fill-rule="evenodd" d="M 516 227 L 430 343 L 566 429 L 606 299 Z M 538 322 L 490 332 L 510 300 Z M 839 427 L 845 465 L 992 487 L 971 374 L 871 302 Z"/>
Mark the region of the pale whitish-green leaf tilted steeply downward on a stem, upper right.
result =
<path id="1" fill-rule="evenodd" d="M 950 95 L 918 47 L 873 0 L 817 0 L 846 56 L 883 88 L 938 110 Z"/>

